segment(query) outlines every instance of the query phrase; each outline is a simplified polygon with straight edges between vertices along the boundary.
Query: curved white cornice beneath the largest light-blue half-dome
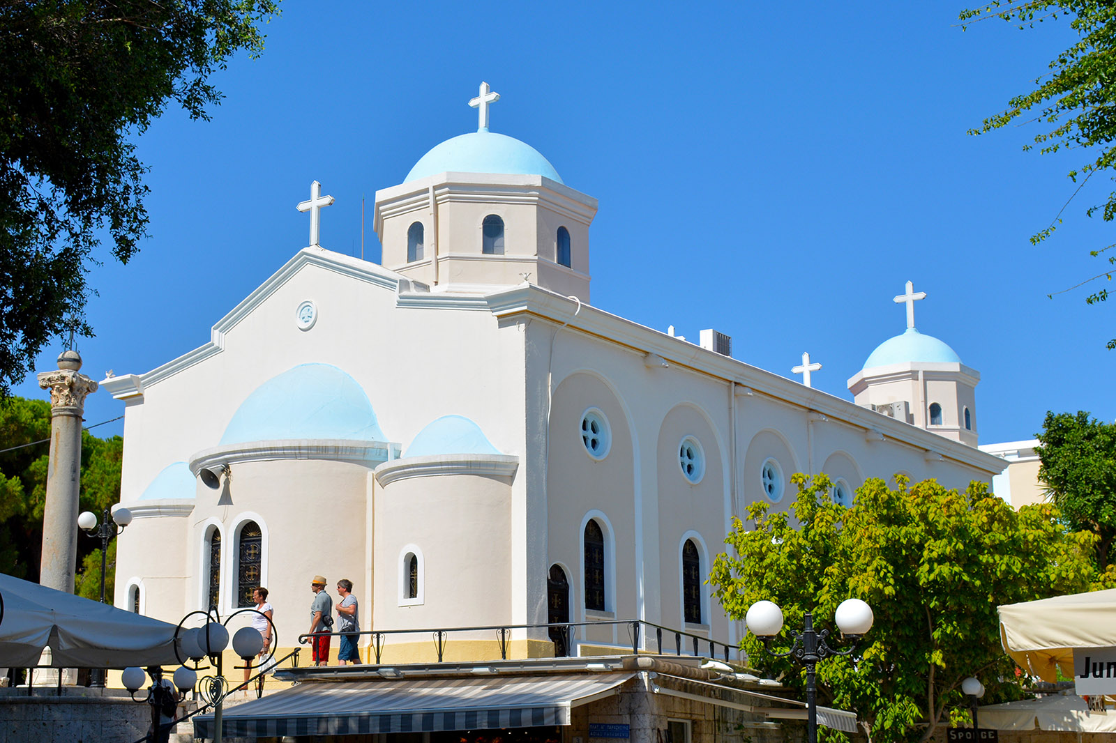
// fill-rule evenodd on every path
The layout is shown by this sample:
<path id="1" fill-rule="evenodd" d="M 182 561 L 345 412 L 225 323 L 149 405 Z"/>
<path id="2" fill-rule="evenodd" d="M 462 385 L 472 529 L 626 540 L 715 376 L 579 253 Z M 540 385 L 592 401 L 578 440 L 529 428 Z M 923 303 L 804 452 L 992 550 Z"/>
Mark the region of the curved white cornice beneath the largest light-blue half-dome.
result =
<path id="1" fill-rule="evenodd" d="M 190 471 L 196 476 L 202 469 L 222 464 L 231 466 L 244 462 L 276 460 L 327 460 L 352 462 L 372 467 L 381 462 L 397 457 L 400 448 L 400 445 L 394 443 L 348 438 L 253 441 L 204 448 L 190 457 Z"/>

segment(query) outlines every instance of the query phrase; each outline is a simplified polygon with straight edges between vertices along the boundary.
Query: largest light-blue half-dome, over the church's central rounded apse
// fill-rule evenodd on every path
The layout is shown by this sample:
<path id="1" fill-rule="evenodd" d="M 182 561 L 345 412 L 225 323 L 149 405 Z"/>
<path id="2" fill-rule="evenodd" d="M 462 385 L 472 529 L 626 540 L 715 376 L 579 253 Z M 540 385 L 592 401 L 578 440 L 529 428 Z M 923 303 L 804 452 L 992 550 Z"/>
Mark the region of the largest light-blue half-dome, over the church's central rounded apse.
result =
<path id="1" fill-rule="evenodd" d="M 221 444 L 282 438 L 385 441 L 364 388 L 328 364 L 302 364 L 257 387 Z"/>

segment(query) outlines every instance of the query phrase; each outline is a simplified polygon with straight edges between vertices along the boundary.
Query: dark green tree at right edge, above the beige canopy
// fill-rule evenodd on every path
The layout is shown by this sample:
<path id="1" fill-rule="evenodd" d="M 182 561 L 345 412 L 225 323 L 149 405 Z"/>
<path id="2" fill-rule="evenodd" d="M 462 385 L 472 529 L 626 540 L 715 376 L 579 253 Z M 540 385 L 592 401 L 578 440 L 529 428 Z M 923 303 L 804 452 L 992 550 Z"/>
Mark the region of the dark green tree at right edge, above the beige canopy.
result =
<path id="1" fill-rule="evenodd" d="M 1048 412 L 1036 434 L 1039 480 L 1062 518 L 1074 528 L 1098 537 L 1097 567 L 1105 570 L 1116 537 L 1116 424 L 1089 418 L 1079 411 Z"/>

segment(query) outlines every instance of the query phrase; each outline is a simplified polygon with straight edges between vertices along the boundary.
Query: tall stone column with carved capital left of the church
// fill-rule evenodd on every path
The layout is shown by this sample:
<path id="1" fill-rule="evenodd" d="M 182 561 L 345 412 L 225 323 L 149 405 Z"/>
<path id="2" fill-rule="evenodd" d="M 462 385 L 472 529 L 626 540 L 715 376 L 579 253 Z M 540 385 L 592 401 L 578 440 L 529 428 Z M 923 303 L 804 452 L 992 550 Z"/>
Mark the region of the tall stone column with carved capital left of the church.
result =
<path id="1" fill-rule="evenodd" d="M 78 485 L 81 467 L 81 413 L 85 397 L 97 383 L 78 374 L 81 357 L 65 350 L 58 370 L 39 375 L 39 386 L 50 390 L 50 464 L 42 514 L 42 561 L 39 583 L 74 592 L 77 568 Z"/>

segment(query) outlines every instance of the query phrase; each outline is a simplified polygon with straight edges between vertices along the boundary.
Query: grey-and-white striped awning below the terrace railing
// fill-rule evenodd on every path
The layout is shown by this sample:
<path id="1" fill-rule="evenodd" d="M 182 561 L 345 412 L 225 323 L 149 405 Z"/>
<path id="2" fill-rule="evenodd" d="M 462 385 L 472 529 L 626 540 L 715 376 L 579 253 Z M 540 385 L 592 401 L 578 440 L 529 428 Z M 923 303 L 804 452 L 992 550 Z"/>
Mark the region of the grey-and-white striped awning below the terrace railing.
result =
<path id="1" fill-rule="evenodd" d="M 635 673 L 302 682 L 224 711 L 227 737 L 360 735 L 568 725 L 570 707 L 617 693 Z M 213 715 L 194 717 L 213 737 Z"/>

